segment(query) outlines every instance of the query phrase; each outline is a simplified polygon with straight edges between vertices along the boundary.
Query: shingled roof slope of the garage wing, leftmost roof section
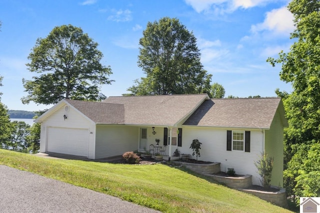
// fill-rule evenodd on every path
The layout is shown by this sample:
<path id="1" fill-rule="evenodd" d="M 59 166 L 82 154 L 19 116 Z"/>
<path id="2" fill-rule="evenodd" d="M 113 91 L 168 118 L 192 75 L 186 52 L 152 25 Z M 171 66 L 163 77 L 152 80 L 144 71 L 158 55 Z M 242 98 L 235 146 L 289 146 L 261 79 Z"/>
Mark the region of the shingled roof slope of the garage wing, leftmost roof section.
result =
<path id="1" fill-rule="evenodd" d="M 108 104 L 101 102 L 78 101 L 65 99 L 70 105 L 95 123 L 123 124 L 123 104 Z"/>

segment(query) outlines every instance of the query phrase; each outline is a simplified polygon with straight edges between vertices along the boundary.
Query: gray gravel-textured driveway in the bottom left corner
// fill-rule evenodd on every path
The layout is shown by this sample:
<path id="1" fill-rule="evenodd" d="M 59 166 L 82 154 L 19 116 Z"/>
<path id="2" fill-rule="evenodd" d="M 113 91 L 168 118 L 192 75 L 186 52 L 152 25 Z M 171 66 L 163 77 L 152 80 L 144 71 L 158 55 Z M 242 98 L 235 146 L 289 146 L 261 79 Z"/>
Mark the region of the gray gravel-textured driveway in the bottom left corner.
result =
<path id="1" fill-rule="evenodd" d="M 158 213 L 118 198 L 0 165 L 0 213 Z"/>

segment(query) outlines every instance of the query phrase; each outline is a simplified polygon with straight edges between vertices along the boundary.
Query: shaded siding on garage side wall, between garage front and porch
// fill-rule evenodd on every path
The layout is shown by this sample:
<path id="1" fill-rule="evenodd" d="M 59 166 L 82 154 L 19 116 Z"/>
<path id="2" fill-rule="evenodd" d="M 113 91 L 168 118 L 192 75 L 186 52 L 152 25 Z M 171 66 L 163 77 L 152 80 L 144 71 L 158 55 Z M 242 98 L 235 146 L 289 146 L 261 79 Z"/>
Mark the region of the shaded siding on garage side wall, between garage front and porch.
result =
<path id="1" fill-rule="evenodd" d="M 95 158 L 122 155 L 138 149 L 139 128 L 124 125 L 96 125 Z"/>

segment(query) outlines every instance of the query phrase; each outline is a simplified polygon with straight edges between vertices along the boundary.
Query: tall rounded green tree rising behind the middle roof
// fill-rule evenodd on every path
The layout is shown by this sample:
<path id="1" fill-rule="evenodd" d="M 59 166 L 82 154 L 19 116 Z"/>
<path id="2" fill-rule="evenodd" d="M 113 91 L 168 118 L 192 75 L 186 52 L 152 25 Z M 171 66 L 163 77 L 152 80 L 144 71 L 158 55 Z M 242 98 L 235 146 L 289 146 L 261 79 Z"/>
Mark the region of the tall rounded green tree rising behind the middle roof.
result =
<path id="1" fill-rule="evenodd" d="M 176 18 L 148 22 L 139 40 L 138 66 L 146 77 L 127 90 L 132 95 L 209 93 L 196 38 Z"/>

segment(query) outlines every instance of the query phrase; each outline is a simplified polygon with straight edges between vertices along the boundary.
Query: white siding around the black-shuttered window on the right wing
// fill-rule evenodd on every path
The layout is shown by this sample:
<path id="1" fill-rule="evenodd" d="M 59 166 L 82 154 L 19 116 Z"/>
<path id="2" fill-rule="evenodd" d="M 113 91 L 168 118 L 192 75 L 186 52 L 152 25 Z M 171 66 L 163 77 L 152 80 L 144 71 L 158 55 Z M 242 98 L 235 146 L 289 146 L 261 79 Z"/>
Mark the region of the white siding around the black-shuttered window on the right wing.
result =
<path id="1" fill-rule="evenodd" d="M 184 126 L 182 147 L 178 147 L 178 149 L 181 154 L 192 154 L 192 150 L 189 149 L 190 144 L 193 139 L 198 139 L 202 143 L 198 160 L 219 162 L 222 172 L 233 168 L 236 174 L 252 175 L 252 184 L 260 185 L 254 161 L 258 160 L 263 150 L 263 134 L 257 130 L 249 131 L 250 152 L 230 152 L 226 151 L 226 129 Z M 174 150 L 172 150 L 173 152 Z"/>

